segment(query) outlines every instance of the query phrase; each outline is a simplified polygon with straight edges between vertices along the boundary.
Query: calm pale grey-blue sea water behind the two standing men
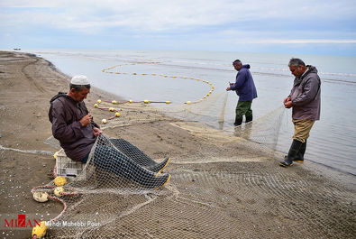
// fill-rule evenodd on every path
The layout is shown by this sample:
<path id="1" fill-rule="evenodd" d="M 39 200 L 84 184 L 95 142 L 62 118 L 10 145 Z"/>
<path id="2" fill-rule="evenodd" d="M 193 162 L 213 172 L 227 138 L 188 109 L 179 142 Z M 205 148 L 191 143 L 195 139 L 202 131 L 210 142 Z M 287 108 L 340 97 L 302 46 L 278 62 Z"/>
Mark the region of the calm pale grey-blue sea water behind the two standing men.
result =
<path id="1" fill-rule="evenodd" d="M 294 77 L 288 69 L 288 60 L 301 58 L 315 66 L 322 79 L 321 120 L 311 131 L 306 159 L 335 170 L 356 175 L 356 57 L 288 55 L 272 53 L 243 53 L 216 51 L 134 51 L 134 50 L 29 50 L 58 69 L 74 76 L 86 75 L 92 85 L 125 99 L 141 101 L 171 101 L 179 105 L 201 99 L 210 86 L 190 78 L 207 80 L 215 92 L 225 92 L 234 82 L 236 71 L 233 60 L 251 65 L 251 73 L 258 91 L 252 103 L 254 119 L 269 114 L 288 96 Z M 156 62 L 137 64 L 137 62 Z M 157 63 L 159 62 L 159 63 Z M 102 69 L 117 66 L 107 74 Z M 122 74 L 128 73 L 128 74 Z M 133 75 L 133 73 L 136 73 Z M 142 73 L 147 75 L 142 75 Z M 165 75 L 165 77 L 151 74 Z M 177 78 L 171 78 L 175 76 Z M 187 78 L 181 78 L 187 77 Z M 232 125 L 238 97 L 228 94 L 225 123 Z M 286 109 L 291 115 L 291 110 Z M 292 141 L 290 132 L 281 135 L 281 151 L 288 152 Z M 228 146 L 228 145 L 227 145 Z"/>

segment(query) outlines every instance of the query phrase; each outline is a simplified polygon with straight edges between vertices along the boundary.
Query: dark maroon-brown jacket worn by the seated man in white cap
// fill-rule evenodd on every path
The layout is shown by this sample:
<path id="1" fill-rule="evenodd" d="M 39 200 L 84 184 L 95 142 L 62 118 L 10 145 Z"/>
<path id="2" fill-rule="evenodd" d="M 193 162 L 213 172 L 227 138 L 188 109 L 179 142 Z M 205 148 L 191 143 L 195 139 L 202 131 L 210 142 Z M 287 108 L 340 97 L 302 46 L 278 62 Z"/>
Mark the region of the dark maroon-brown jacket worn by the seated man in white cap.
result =
<path id="1" fill-rule="evenodd" d="M 58 96 L 52 98 L 49 112 L 53 136 L 70 159 L 82 161 L 96 142 L 93 124 L 83 127 L 79 122 L 88 114 L 86 104 L 67 95 Z"/>

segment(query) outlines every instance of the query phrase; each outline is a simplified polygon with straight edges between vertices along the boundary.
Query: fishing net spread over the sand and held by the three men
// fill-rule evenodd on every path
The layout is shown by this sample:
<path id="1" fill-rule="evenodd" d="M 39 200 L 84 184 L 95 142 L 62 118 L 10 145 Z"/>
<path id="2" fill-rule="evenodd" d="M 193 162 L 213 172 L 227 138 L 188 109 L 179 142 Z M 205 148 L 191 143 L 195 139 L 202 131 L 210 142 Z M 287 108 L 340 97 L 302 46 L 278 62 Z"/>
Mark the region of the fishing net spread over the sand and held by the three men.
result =
<path id="1" fill-rule="evenodd" d="M 196 138 L 194 151 L 152 160 L 123 137 L 102 134 L 58 197 L 53 181 L 35 190 L 65 205 L 46 238 L 352 237 L 351 193 L 268 163 L 282 158 L 285 110 L 233 127 L 224 123 L 225 104 L 224 93 L 183 106 L 102 102 L 98 108 L 120 112 L 104 132 L 168 121 Z"/>

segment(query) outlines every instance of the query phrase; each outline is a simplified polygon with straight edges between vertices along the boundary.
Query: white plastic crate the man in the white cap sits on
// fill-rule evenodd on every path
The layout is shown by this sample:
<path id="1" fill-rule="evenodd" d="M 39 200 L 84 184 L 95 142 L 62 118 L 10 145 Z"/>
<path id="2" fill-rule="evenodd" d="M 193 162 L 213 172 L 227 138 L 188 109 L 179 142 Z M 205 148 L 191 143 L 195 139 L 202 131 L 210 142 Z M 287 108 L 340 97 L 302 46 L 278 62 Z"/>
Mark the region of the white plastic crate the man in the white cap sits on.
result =
<path id="1" fill-rule="evenodd" d="M 86 164 L 83 162 L 72 161 L 71 159 L 69 159 L 63 149 L 57 152 L 57 176 L 77 177 L 80 173 L 82 173 L 85 166 Z"/>

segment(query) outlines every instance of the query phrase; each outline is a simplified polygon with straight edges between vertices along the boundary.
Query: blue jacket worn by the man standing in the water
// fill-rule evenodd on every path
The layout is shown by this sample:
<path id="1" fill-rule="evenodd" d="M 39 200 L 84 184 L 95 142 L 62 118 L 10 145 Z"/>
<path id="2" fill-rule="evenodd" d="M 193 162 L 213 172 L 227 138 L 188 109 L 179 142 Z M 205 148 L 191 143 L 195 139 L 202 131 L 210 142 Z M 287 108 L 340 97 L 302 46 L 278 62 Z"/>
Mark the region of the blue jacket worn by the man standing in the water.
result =
<path id="1" fill-rule="evenodd" d="M 236 82 L 230 87 L 236 91 L 239 101 L 250 101 L 257 98 L 257 90 L 250 72 L 250 65 L 242 65 L 236 75 Z"/>

